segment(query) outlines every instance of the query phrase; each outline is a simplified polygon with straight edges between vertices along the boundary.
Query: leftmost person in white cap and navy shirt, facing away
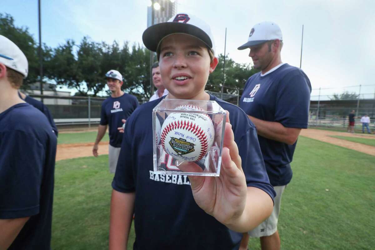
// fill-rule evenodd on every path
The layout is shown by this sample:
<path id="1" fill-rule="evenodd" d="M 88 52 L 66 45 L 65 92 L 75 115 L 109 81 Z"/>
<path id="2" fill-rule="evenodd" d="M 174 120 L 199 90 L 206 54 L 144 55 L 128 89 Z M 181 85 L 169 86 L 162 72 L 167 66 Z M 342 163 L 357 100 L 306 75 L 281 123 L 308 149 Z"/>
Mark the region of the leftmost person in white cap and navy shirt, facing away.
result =
<path id="1" fill-rule="evenodd" d="M 25 55 L 1 35 L 0 44 L 0 249 L 49 250 L 57 138 L 18 97 Z"/>

